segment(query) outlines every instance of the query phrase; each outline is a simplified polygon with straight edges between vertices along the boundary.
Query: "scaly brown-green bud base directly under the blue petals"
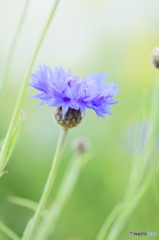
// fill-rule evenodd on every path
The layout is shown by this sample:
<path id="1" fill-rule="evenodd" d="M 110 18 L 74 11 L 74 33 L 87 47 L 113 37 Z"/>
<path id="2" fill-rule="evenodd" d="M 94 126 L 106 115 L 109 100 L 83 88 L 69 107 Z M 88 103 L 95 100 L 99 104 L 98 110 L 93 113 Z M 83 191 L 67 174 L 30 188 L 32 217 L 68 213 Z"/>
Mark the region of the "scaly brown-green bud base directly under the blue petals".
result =
<path id="1" fill-rule="evenodd" d="M 72 108 L 68 109 L 63 118 L 62 107 L 58 107 L 54 116 L 57 123 L 66 129 L 76 127 L 82 121 L 81 111 Z"/>

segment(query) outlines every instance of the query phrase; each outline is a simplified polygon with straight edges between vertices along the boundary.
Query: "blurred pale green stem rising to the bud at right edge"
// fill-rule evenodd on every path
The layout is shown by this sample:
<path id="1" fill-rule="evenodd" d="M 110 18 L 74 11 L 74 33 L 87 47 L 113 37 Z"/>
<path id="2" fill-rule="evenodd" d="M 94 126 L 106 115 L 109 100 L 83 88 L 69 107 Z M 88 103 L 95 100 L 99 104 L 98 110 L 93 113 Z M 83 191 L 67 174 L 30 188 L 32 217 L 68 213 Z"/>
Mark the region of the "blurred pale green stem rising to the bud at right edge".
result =
<path id="1" fill-rule="evenodd" d="M 157 73 L 158 75 L 158 73 Z M 158 98 L 159 98 L 159 79 L 156 78 L 154 81 L 154 88 L 152 93 L 151 110 L 149 115 L 149 129 L 148 129 L 148 140 L 143 153 L 138 153 L 136 155 L 136 164 L 133 165 L 133 169 L 129 178 L 129 183 L 124 197 L 124 207 L 121 210 L 117 220 L 114 222 L 110 232 L 108 234 L 107 240 L 116 240 L 125 226 L 127 219 L 129 218 L 132 209 L 137 206 L 137 203 L 141 199 L 143 192 L 146 190 L 149 182 L 151 181 L 151 171 L 149 170 L 148 176 L 145 176 L 145 167 L 149 159 L 150 153 L 154 147 L 154 143 L 157 138 L 157 114 L 158 114 Z M 143 180 L 143 189 L 140 184 Z M 142 186 L 142 185 L 141 185 Z M 137 192 L 139 191 L 139 196 L 137 197 Z M 142 193 L 142 194 L 141 194 Z M 135 200 L 137 199 L 137 200 Z M 133 203 L 133 201 L 135 201 Z"/>

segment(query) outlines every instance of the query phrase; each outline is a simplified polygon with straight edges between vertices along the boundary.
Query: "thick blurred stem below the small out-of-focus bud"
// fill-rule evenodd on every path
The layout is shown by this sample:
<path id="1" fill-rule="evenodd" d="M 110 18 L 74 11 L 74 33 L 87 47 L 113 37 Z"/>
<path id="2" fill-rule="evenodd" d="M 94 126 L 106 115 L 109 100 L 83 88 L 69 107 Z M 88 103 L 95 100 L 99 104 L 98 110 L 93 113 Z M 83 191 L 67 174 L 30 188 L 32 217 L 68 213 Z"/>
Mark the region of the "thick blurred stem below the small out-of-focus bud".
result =
<path id="1" fill-rule="evenodd" d="M 59 187 L 56 199 L 48 209 L 48 215 L 46 218 L 43 218 L 35 236 L 35 240 L 46 240 L 53 233 L 57 219 L 64 205 L 67 203 L 80 175 L 80 172 L 86 163 L 85 156 L 87 157 L 87 160 L 90 158 L 87 153 L 78 154 L 69 164 L 63 177 L 62 183 Z"/>

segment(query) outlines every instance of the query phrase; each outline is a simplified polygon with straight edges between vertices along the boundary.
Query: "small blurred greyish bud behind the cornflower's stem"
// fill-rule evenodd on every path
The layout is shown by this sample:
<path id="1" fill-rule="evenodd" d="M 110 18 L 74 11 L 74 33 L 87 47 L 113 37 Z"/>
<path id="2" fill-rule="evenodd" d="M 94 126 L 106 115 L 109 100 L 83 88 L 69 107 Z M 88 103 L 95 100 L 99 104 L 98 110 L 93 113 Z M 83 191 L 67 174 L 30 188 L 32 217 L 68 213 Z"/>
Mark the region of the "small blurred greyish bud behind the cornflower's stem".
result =
<path id="1" fill-rule="evenodd" d="M 89 139 L 85 137 L 79 137 L 72 142 L 72 148 L 76 152 L 83 154 L 91 148 L 91 143 Z"/>

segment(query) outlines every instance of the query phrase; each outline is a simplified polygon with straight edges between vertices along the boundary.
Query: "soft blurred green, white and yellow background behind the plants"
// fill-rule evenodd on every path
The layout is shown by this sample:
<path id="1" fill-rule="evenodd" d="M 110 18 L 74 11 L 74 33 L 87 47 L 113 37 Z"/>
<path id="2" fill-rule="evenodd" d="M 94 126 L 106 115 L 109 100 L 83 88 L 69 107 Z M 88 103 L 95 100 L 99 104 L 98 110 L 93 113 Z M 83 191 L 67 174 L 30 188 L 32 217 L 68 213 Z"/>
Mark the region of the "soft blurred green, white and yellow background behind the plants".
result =
<path id="1" fill-rule="evenodd" d="M 17 94 L 53 3 L 52 0 L 30 1 L 0 108 L 1 140 L 5 137 Z M 24 4 L 24 0 L 0 0 L 0 79 Z M 81 172 L 50 239 L 94 239 L 113 207 L 123 199 L 132 162 L 131 128 L 138 117 L 143 91 L 147 93 L 145 101 L 149 105 L 155 75 L 150 54 L 159 44 L 158 9 L 158 0 L 60 1 L 33 72 L 43 63 L 51 68 L 71 68 L 74 74 L 83 77 L 107 72 L 107 81 L 119 84 L 116 100 L 120 103 L 112 106 L 113 115 L 108 115 L 105 120 L 88 110 L 83 123 L 69 132 L 48 205 L 53 201 L 71 159 L 72 140 L 77 136 L 88 137 L 94 156 Z M 21 131 L 6 167 L 9 173 L 0 180 L 0 219 L 19 235 L 33 213 L 9 203 L 7 196 L 38 202 L 59 134 L 59 127 L 52 118 L 55 109 L 36 108 L 39 100 L 30 98 L 35 93 L 37 91 L 28 86 Z M 159 178 L 156 177 L 157 184 L 159 186 Z M 130 231 L 158 231 L 156 194 L 150 186 L 119 240 L 127 240 Z M 0 232 L 0 240 L 9 238 Z"/>

